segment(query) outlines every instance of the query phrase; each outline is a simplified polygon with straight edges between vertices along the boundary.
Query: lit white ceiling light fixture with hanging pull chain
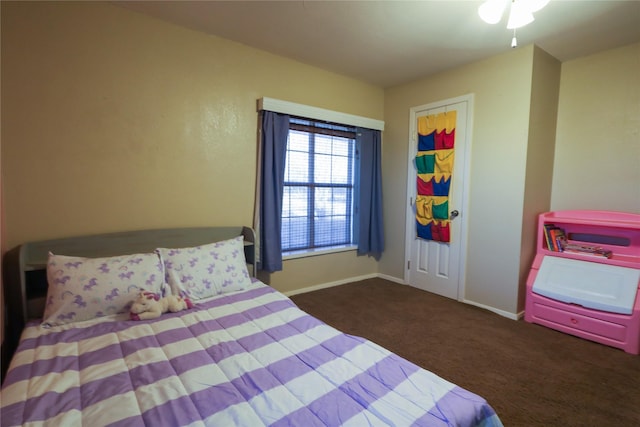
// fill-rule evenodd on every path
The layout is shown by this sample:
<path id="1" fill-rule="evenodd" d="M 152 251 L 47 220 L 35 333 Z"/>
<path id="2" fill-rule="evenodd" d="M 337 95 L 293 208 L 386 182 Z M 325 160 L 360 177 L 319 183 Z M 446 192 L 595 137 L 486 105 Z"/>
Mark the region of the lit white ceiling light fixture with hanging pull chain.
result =
<path id="1" fill-rule="evenodd" d="M 478 8 L 478 15 L 487 24 L 497 24 L 502 20 L 507 4 L 509 8 L 509 19 L 507 28 L 513 30 L 511 47 L 516 47 L 516 28 L 524 27 L 533 22 L 533 12 L 537 12 L 549 3 L 550 0 L 486 0 Z"/>

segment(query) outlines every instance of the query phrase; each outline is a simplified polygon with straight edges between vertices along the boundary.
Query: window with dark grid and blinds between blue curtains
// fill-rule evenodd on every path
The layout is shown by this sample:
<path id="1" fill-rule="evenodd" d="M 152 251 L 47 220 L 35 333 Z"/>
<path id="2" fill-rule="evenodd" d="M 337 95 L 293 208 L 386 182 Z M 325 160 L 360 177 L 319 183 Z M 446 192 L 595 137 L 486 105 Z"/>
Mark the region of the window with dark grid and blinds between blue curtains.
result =
<path id="1" fill-rule="evenodd" d="M 282 251 L 352 244 L 355 128 L 290 118 Z"/>

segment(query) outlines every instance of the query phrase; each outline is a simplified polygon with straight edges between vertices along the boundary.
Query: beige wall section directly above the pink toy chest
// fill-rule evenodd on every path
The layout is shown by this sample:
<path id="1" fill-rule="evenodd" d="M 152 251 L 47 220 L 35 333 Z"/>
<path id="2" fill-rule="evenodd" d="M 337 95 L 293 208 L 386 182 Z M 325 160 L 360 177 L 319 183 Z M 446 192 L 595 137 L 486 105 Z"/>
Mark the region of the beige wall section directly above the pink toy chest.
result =
<path id="1" fill-rule="evenodd" d="M 640 213 L 640 43 L 562 64 L 551 207 Z"/>

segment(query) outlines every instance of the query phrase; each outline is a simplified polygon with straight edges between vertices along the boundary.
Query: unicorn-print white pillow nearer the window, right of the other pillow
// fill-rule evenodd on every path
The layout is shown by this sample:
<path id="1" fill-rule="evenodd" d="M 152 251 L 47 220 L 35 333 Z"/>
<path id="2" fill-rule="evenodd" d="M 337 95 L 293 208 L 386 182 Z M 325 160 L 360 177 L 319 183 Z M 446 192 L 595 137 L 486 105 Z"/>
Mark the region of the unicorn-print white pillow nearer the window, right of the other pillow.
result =
<path id="1" fill-rule="evenodd" d="M 156 252 L 174 295 L 202 299 L 251 284 L 243 236 L 192 248 L 158 248 Z"/>

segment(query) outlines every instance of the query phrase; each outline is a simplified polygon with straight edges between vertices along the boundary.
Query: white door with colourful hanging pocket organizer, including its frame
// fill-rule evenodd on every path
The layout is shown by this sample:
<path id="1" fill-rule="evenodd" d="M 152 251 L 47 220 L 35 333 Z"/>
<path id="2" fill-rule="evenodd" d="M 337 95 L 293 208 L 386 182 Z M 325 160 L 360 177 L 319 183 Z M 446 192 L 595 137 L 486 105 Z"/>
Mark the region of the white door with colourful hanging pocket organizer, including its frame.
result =
<path id="1" fill-rule="evenodd" d="M 466 95 L 410 110 L 404 279 L 456 300 L 464 295 L 472 107 L 473 96 Z M 433 128 L 438 132 L 438 149 L 425 150 L 434 148 L 423 135 Z M 434 196 L 424 196 L 430 193 Z"/>

